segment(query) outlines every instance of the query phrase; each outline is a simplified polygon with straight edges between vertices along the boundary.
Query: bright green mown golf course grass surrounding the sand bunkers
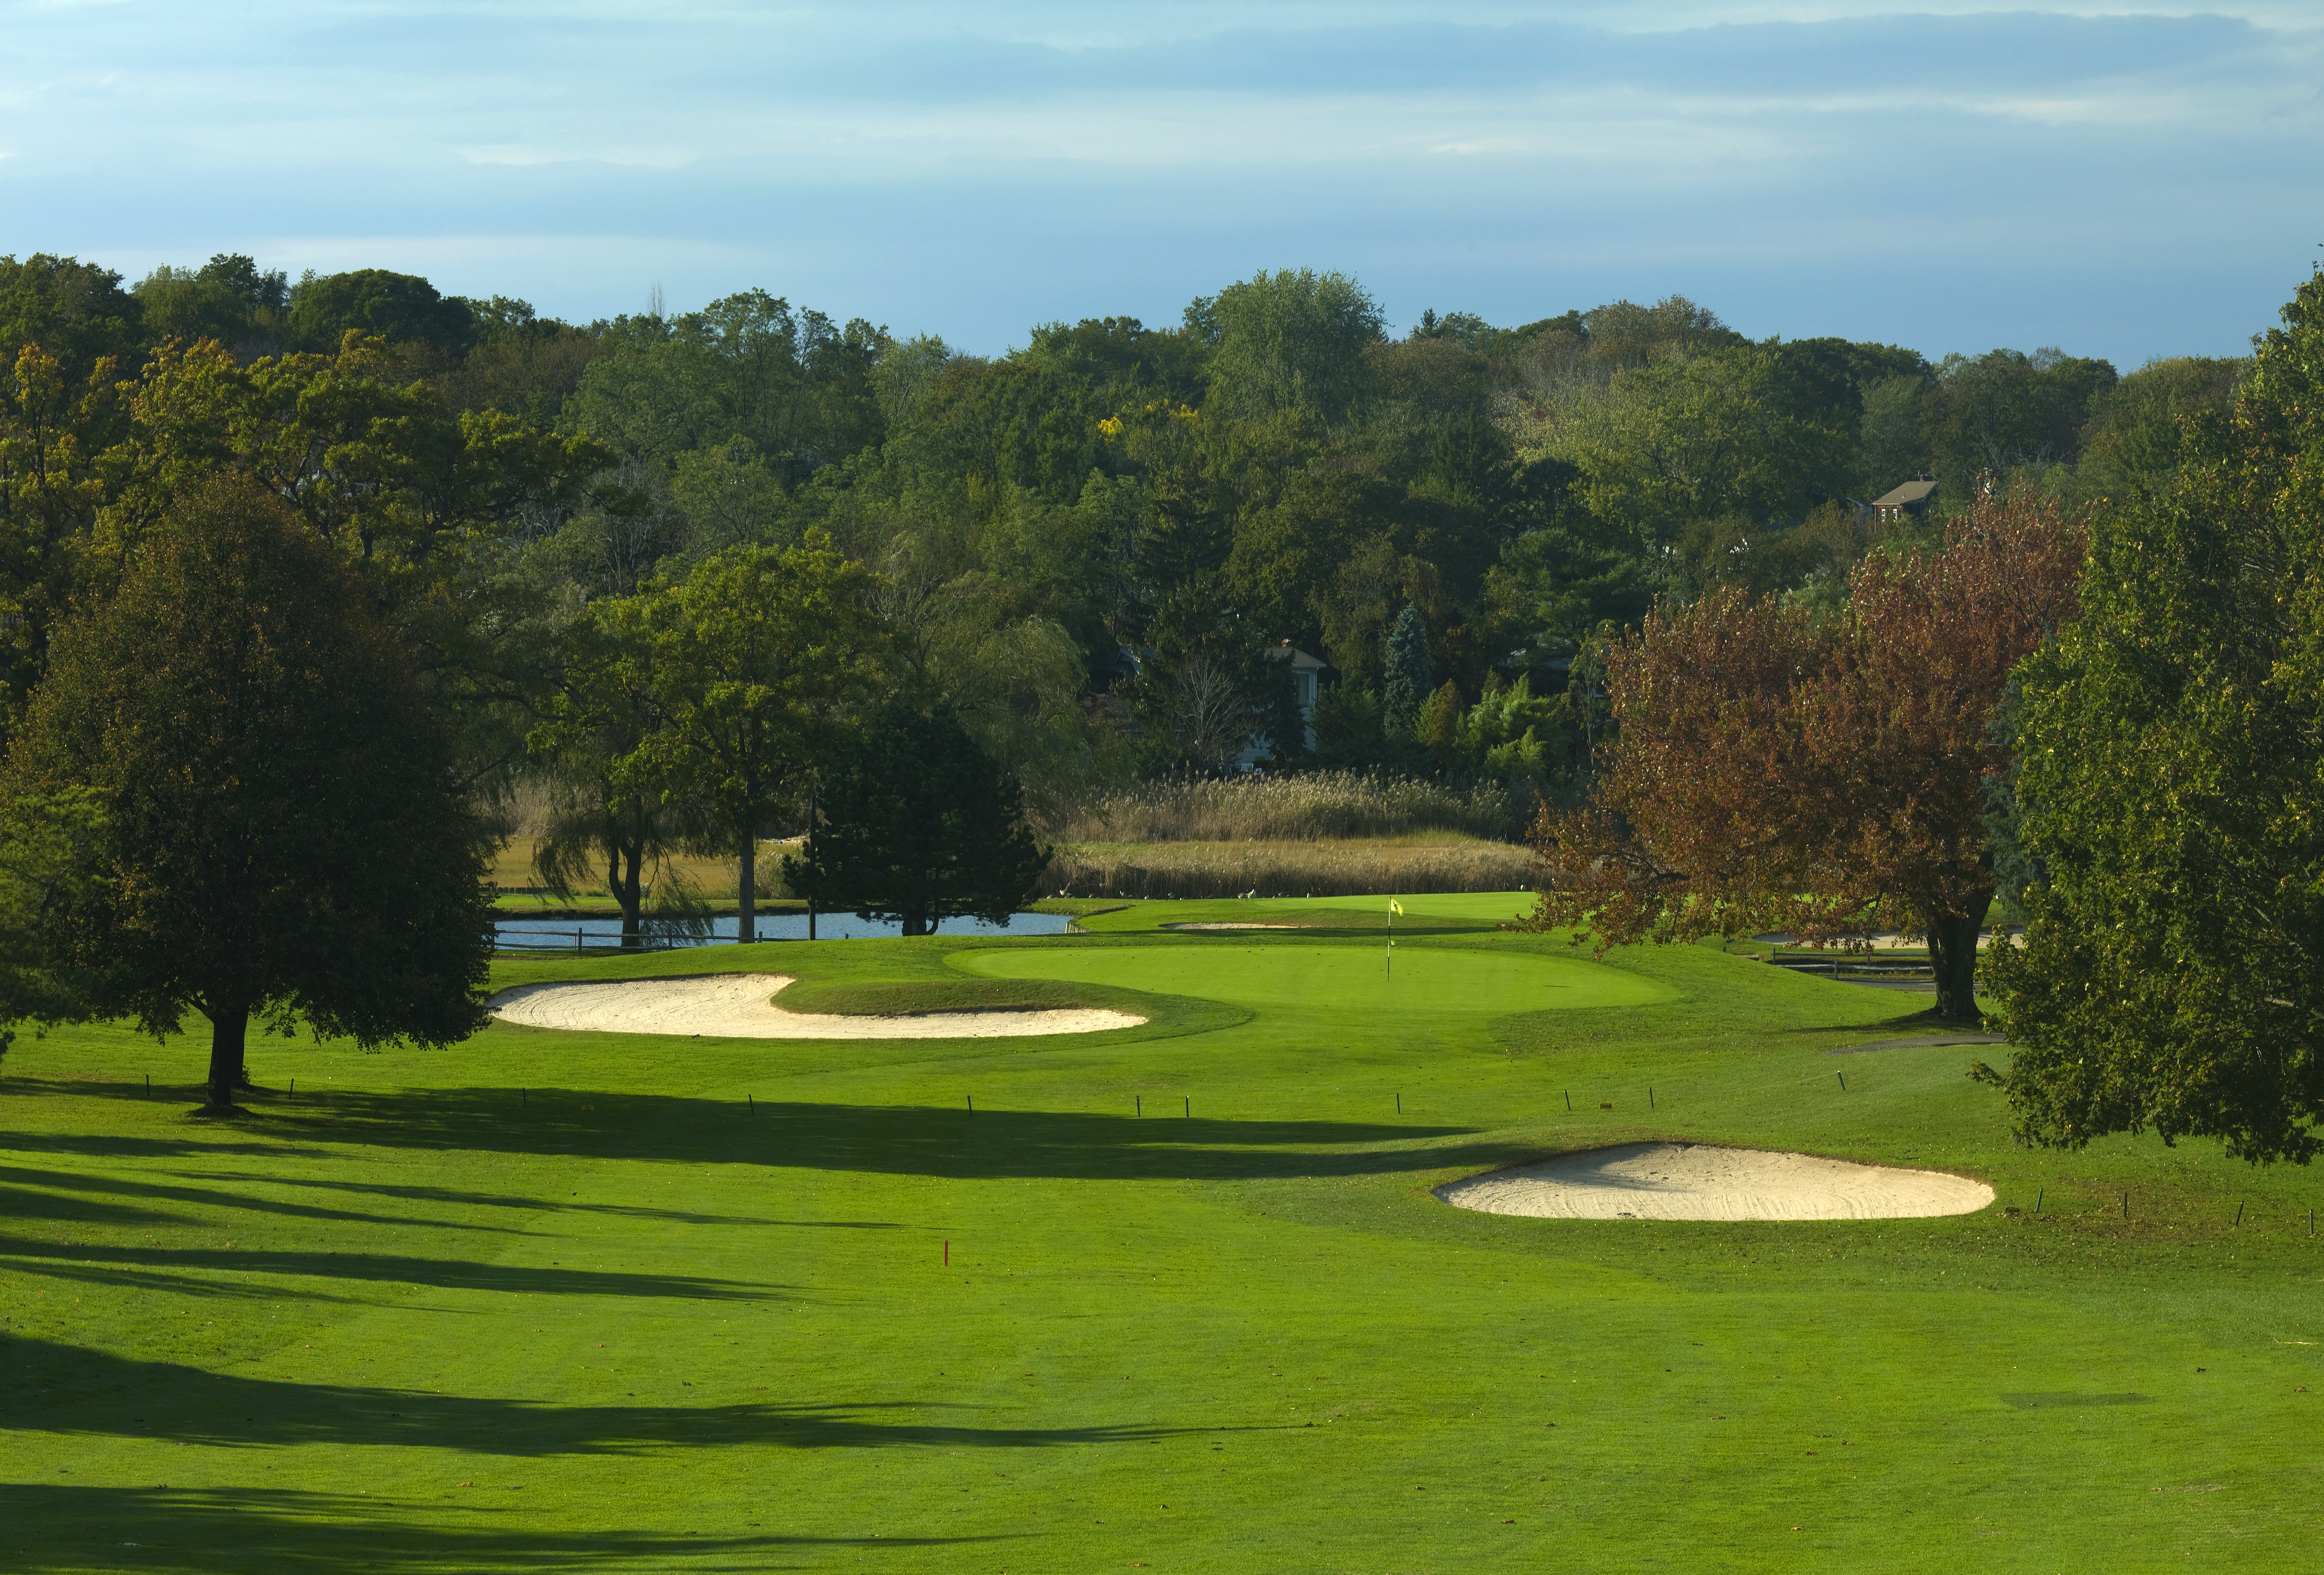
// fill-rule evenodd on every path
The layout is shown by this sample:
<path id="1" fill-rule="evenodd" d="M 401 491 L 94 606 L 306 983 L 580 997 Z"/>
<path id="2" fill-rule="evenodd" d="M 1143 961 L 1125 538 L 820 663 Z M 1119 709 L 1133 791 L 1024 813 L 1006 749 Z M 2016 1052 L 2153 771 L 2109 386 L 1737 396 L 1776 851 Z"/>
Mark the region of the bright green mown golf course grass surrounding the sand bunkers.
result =
<path id="1" fill-rule="evenodd" d="M 867 1001 L 1020 971 L 1153 1015 L 1099 1036 L 263 1041 L 242 1120 L 191 1113 L 193 1043 L 19 1041 L 0 1566 L 2305 1568 L 2315 1175 L 2027 1152 L 1971 1050 L 1829 1055 L 1910 1034 L 1906 994 L 1710 948 L 1592 964 L 1455 906 L 1397 969 L 1462 987 L 1299 1004 L 1271 978 L 1378 936 L 1155 934 L 1218 906 L 1313 908 L 500 964 Z M 1604 1004 L 1538 1004 L 1576 971 Z M 1427 1194 L 1650 1136 L 2001 1201 L 1659 1224 Z"/>

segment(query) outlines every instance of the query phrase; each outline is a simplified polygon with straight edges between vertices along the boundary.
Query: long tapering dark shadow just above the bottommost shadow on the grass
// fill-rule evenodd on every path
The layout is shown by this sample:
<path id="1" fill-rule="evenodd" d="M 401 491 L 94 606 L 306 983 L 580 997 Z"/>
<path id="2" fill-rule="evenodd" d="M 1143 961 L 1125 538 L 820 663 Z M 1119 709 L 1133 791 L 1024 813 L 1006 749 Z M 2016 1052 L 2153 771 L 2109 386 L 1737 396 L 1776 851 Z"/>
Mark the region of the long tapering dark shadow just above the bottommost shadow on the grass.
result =
<path id="1" fill-rule="evenodd" d="M 37 1387 L 16 1387 L 0 1417 L 12 1429 L 58 1436 L 151 1438 L 218 1450 L 290 1445 L 395 1445 L 551 1459 L 637 1454 L 672 1447 L 765 1445 L 772 1450 L 1055 1450 L 1120 1445 L 1208 1426 L 992 1426 L 964 1419 L 969 1405 L 941 1401 L 760 1401 L 746 1380 L 695 1380 L 604 1368 L 602 1380 L 634 1385 L 651 1398 L 551 1403 L 500 1396 L 428 1394 L 365 1385 L 311 1385 L 288 1378 L 214 1373 L 177 1361 L 137 1361 L 51 1340 L 14 1340 L 12 1357 Z M 660 1366 L 660 1357 L 637 1357 Z M 702 1396 L 702 1398 L 695 1398 Z M 153 1466 L 167 1477 L 167 1459 Z M 0 1522 L 5 1524 L 5 1522 Z M 5 1540 L 5 1533 L 0 1533 Z"/>

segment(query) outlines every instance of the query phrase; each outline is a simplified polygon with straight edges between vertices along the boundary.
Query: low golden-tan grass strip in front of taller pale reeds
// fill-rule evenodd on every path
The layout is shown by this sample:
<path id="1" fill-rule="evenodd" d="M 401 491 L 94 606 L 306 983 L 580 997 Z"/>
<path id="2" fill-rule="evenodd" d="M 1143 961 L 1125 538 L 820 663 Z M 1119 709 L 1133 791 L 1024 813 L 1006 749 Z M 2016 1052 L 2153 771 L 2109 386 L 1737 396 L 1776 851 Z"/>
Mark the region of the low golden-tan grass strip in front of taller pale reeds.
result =
<path id="1" fill-rule="evenodd" d="M 1497 841 L 1106 841 L 1060 846 L 1046 894 L 1367 897 L 1515 892 L 1529 880 L 1529 853 Z"/>

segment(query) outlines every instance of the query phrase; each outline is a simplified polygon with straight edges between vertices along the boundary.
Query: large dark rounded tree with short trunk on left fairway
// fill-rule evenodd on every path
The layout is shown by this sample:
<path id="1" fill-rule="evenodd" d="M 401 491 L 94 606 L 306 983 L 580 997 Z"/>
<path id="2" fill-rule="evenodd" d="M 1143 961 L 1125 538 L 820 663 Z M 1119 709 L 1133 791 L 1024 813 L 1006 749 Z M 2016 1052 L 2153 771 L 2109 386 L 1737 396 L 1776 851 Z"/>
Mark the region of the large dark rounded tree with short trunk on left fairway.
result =
<path id="1" fill-rule="evenodd" d="M 365 1045 L 483 1024 L 486 834 L 444 725 L 346 558 L 232 472 L 58 632 L 0 801 L 88 804 L 21 959 L 70 999 L 35 1015 L 200 1013 L 218 1106 L 253 1017 Z"/>

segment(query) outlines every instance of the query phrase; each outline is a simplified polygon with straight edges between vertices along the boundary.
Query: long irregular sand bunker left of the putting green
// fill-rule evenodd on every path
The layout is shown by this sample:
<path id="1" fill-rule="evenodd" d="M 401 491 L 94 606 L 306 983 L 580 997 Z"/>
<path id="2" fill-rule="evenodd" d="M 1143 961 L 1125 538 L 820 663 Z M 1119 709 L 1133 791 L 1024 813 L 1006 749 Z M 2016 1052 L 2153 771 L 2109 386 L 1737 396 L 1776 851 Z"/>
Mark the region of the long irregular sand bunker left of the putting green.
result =
<path id="1" fill-rule="evenodd" d="M 537 1029 L 588 1034 L 709 1034 L 716 1038 L 1013 1038 L 1099 1034 L 1146 1017 L 1113 1011 L 913 1013 L 895 1017 L 786 1013 L 774 992 L 788 973 L 709 978 L 625 978 L 572 985 L 518 985 L 486 1006 L 495 1017 Z"/>

